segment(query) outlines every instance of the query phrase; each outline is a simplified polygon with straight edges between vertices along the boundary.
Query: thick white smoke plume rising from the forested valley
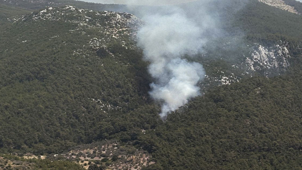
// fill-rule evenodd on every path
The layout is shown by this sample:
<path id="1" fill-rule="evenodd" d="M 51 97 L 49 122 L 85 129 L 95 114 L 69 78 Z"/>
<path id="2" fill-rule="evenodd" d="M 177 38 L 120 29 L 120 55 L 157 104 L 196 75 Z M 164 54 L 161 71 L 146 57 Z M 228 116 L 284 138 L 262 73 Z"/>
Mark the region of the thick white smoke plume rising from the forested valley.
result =
<path id="1" fill-rule="evenodd" d="M 138 45 L 144 50 L 144 59 L 150 62 L 148 70 L 154 82 L 149 94 L 162 102 L 163 119 L 200 95 L 197 83 L 204 79 L 203 66 L 182 56 L 197 54 L 207 41 L 207 34 L 215 30 L 213 20 L 200 11 L 203 9 L 169 5 L 140 11 L 145 13 L 142 19 L 146 24 L 138 31 Z"/>

